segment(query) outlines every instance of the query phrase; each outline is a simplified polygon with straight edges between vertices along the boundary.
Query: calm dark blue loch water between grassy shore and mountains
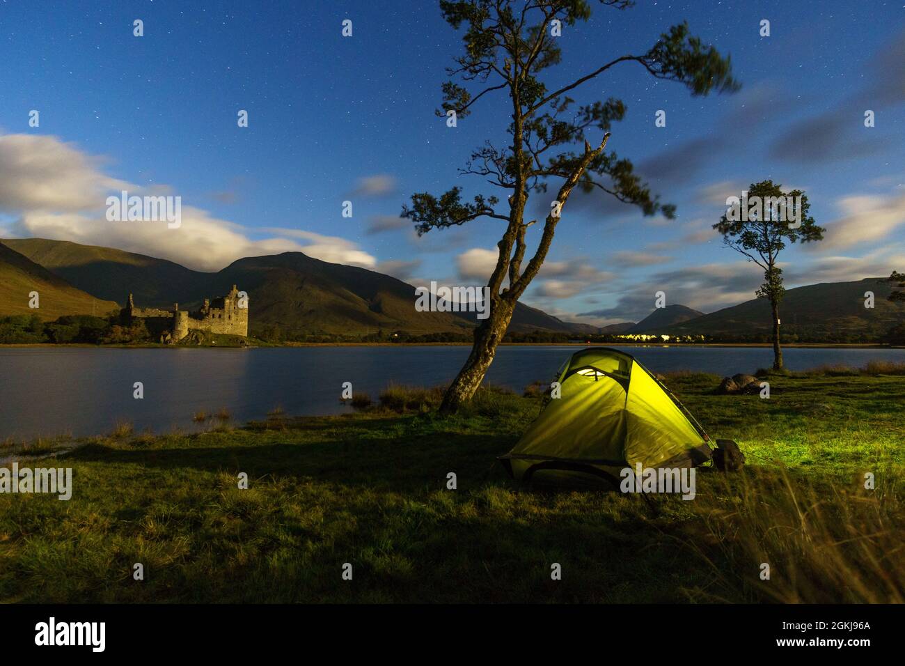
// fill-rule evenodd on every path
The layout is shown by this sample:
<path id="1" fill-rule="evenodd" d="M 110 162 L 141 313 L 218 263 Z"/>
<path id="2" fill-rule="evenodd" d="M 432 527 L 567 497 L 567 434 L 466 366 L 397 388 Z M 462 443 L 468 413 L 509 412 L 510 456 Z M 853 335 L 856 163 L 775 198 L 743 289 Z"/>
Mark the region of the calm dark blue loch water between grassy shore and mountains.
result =
<path id="1" fill-rule="evenodd" d="M 501 347 L 489 381 L 521 391 L 551 381 L 580 347 Z M 752 347 L 624 348 L 653 372 L 754 372 L 772 351 Z M 300 347 L 276 349 L 0 349 L 0 439 L 193 428 L 195 412 L 225 407 L 233 422 L 260 419 L 281 405 L 290 415 L 332 414 L 341 385 L 372 398 L 388 382 L 433 386 L 450 381 L 466 347 Z M 790 370 L 824 363 L 905 362 L 905 349 L 786 349 Z M 132 385 L 144 384 L 144 400 Z"/>

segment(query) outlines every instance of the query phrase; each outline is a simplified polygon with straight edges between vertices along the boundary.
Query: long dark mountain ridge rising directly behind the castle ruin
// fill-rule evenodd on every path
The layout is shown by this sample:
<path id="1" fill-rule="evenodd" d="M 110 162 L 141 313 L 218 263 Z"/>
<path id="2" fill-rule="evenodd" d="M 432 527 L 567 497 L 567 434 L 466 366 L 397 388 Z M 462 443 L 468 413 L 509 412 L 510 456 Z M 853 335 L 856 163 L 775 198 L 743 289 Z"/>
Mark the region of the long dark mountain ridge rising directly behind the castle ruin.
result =
<path id="1" fill-rule="evenodd" d="M 203 273 L 152 256 L 43 238 L 0 241 L 53 274 L 100 298 L 142 307 L 192 309 L 205 297 L 238 285 L 249 294 L 252 333 L 278 326 L 283 333 L 465 333 L 473 313 L 419 313 L 414 286 L 357 266 L 330 264 L 300 252 L 245 257 L 217 273 Z M 518 304 L 510 329 L 595 333 L 529 305 Z"/>

